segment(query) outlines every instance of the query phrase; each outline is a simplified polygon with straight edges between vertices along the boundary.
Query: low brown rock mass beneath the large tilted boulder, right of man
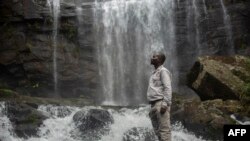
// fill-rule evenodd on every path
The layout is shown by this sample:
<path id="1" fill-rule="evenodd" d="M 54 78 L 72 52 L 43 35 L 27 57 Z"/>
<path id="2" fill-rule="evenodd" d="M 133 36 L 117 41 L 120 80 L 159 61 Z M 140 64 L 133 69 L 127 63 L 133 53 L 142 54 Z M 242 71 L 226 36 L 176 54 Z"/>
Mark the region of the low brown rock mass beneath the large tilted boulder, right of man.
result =
<path id="1" fill-rule="evenodd" d="M 173 97 L 172 124 L 181 122 L 188 131 L 204 139 L 223 140 L 224 124 L 239 124 L 232 118 L 233 115 L 238 115 L 239 119 L 249 119 L 247 117 L 250 113 L 247 112 L 247 107 L 237 100 L 200 101 Z"/>

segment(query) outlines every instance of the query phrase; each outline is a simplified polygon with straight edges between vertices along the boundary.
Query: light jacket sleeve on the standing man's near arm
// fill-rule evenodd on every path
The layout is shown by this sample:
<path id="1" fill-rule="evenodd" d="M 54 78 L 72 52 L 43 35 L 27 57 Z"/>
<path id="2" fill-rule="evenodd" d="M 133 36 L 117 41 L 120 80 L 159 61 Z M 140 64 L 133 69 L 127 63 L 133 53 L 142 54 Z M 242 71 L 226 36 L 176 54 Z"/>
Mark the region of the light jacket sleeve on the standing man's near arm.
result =
<path id="1" fill-rule="evenodd" d="M 163 101 L 170 106 L 172 104 L 172 86 L 171 86 L 171 74 L 167 70 L 161 71 L 161 81 L 163 85 Z"/>

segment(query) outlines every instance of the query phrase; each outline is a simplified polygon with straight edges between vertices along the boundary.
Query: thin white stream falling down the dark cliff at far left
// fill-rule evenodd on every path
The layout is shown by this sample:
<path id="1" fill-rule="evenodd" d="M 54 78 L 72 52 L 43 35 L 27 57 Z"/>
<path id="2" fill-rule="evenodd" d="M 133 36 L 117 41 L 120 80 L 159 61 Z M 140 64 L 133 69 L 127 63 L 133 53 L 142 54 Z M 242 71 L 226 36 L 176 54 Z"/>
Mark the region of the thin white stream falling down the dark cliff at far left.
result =
<path id="1" fill-rule="evenodd" d="M 53 77 L 54 92 L 57 96 L 58 91 L 58 70 L 57 70 L 57 34 L 58 34 L 58 17 L 60 14 L 60 0 L 47 0 L 50 12 L 53 16 Z"/>

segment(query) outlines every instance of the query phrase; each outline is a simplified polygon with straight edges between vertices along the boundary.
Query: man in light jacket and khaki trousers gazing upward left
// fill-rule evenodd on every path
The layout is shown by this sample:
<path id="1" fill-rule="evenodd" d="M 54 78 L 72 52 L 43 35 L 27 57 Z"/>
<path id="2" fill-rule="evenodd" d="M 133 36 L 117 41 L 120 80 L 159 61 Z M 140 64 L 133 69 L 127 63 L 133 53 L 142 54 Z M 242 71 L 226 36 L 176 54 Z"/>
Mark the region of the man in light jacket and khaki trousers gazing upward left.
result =
<path id="1" fill-rule="evenodd" d="M 151 64 L 155 70 L 149 79 L 147 99 L 151 104 L 149 117 L 159 141 L 171 141 L 170 107 L 172 99 L 171 74 L 163 67 L 165 55 L 154 54 Z"/>

